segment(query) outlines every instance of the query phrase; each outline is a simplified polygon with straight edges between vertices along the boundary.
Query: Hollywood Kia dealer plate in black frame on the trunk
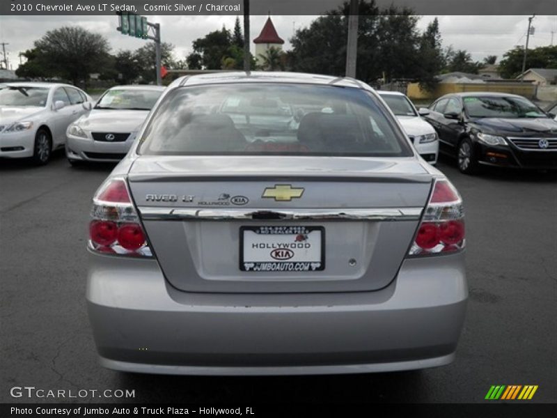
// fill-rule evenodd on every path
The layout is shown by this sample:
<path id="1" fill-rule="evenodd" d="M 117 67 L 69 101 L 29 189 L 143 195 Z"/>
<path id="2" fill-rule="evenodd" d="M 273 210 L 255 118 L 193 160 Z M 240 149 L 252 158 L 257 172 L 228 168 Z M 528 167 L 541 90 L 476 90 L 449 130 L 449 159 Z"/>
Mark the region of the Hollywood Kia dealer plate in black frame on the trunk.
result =
<path id="1" fill-rule="evenodd" d="M 241 226 L 240 270 L 315 272 L 325 268 L 322 226 Z"/>

